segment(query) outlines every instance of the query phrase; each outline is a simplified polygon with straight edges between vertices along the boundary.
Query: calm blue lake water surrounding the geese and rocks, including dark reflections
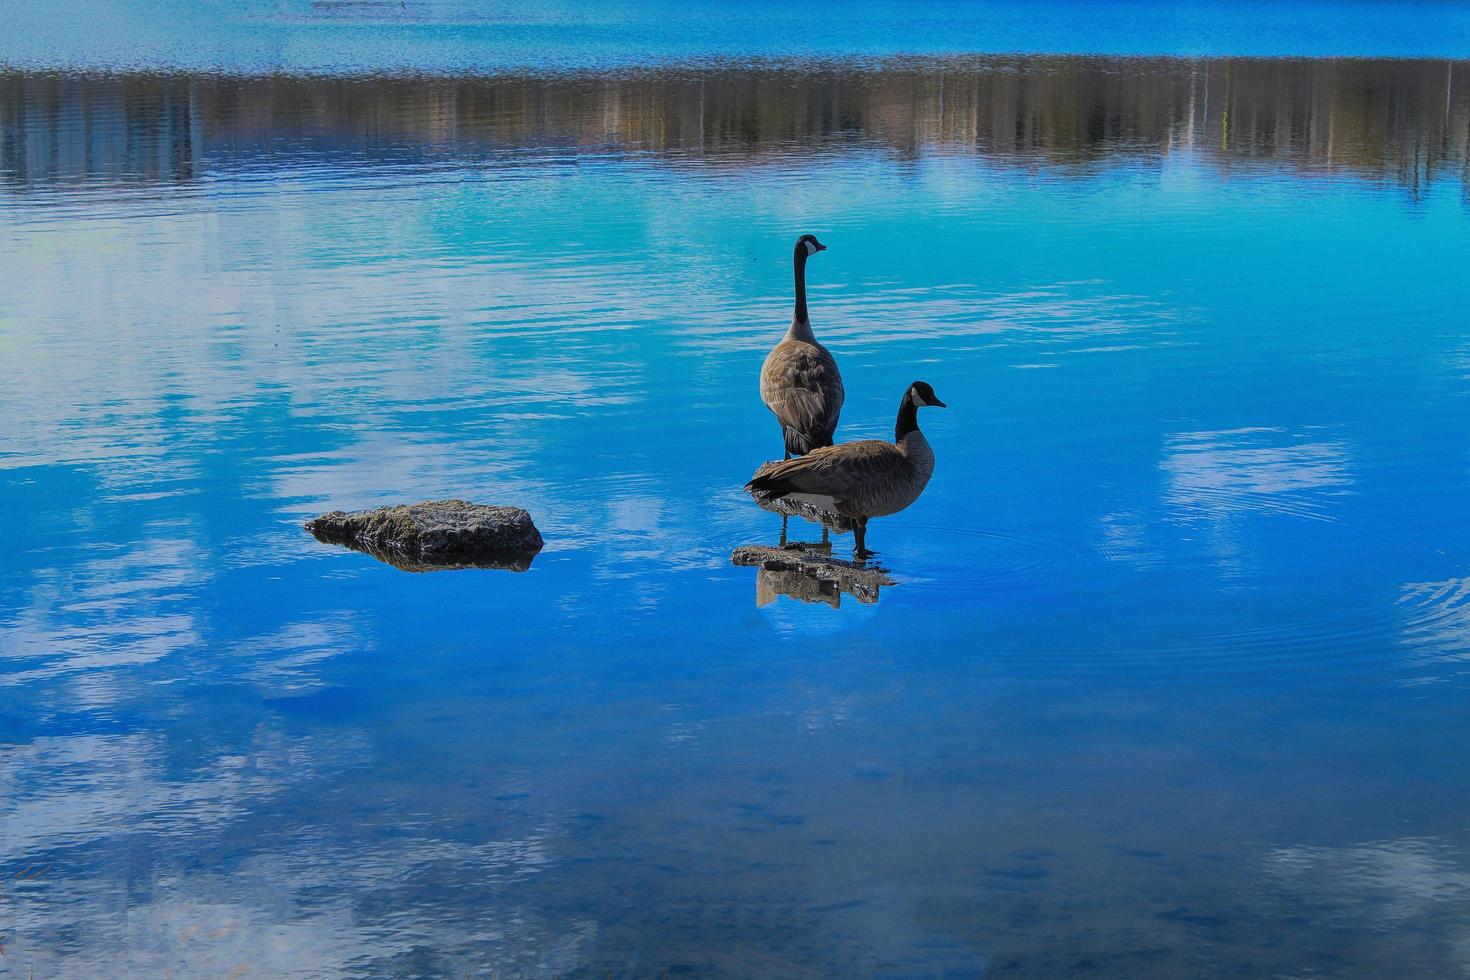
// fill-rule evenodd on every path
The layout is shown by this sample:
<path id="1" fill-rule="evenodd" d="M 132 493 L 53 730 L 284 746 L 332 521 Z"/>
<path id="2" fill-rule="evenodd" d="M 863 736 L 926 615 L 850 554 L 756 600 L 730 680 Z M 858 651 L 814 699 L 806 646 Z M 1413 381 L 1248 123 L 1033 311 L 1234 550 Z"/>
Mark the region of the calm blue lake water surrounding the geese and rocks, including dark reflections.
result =
<path id="1" fill-rule="evenodd" d="M 1470 63 L 16 37 L 0 976 L 1470 976 Z M 801 232 L 872 604 L 731 566 Z"/>

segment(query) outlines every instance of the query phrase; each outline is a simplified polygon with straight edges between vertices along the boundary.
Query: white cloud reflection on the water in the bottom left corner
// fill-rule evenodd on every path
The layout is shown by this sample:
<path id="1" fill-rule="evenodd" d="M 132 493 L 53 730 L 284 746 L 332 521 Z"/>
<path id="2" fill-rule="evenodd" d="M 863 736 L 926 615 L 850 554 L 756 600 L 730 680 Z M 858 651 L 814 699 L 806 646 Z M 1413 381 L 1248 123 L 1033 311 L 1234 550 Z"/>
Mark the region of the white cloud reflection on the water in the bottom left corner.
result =
<path id="1" fill-rule="evenodd" d="M 190 771 L 153 735 L 0 752 L 0 867 L 13 884 L 0 973 L 541 977 L 589 961 L 592 920 L 551 923 L 504 893 L 551 867 L 554 829 L 460 840 L 403 821 L 356 839 L 348 820 L 262 846 L 250 814 L 310 795 L 369 752 L 351 730 L 269 727 Z"/>

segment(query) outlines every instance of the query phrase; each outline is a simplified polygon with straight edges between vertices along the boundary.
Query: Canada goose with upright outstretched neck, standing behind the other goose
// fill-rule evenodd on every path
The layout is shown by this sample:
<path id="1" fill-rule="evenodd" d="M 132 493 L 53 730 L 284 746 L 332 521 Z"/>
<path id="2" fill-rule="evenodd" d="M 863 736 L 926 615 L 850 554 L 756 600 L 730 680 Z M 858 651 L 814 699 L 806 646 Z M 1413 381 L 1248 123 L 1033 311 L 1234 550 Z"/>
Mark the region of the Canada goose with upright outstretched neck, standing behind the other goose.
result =
<path id="1" fill-rule="evenodd" d="M 792 256 L 797 278 L 797 311 L 785 339 L 772 348 L 760 367 L 760 400 L 776 414 L 786 441 L 786 457 L 832 445 L 842 411 L 842 376 L 828 348 L 817 344 L 807 320 L 807 259 L 826 251 L 811 235 L 797 239 Z"/>

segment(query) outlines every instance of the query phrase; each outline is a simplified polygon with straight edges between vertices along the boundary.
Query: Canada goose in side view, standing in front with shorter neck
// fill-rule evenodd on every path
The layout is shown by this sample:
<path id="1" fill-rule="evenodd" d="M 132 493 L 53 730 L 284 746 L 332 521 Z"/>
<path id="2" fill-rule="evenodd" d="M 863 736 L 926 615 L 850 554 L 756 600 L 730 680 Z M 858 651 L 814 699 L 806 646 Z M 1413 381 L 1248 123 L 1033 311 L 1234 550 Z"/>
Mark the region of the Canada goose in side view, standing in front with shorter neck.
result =
<path id="1" fill-rule="evenodd" d="M 898 406 L 894 441 L 861 439 L 813 450 L 798 460 L 766 463 L 745 489 L 770 500 L 792 498 L 853 519 L 854 555 L 866 558 L 867 519 L 897 514 L 919 500 L 933 475 L 933 450 L 919 430 L 920 406 L 944 408 L 928 382 L 908 385 Z"/>

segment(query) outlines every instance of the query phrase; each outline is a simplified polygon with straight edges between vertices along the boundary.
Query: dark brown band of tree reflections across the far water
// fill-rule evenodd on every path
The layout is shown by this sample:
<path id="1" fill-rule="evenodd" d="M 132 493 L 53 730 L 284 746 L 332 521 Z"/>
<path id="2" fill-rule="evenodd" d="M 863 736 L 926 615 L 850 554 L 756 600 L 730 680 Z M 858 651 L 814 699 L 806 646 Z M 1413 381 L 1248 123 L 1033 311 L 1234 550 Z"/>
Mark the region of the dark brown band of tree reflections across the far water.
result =
<path id="1" fill-rule="evenodd" d="M 634 148 L 697 163 L 863 143 L 1086 167 L 1195 153 L 1420 191 L 1467 166 L 1449 62 L 1000 59 L 492 79 L 0 75 L 12 182 L 190 179 L 262 153 L 460 157 Z"/>

